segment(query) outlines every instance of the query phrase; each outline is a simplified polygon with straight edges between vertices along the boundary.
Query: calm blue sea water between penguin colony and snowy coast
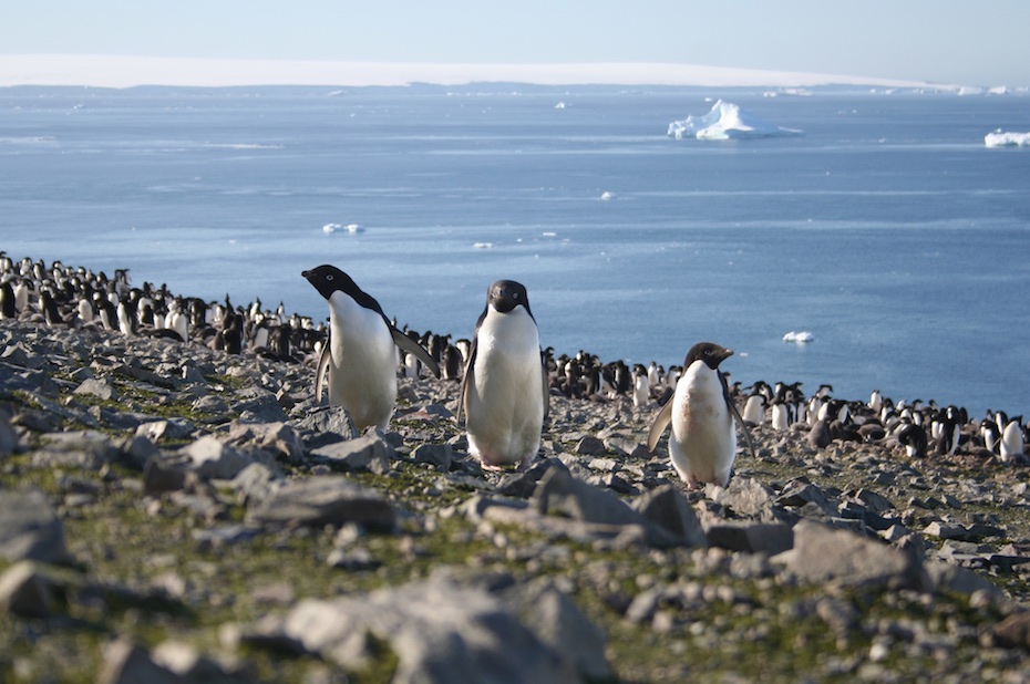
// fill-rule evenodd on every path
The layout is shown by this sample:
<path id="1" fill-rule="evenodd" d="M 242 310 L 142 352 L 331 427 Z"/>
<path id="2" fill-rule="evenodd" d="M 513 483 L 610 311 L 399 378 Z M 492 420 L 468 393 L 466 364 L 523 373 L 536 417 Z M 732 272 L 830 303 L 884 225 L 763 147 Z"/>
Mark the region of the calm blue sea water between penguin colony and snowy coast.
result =
<path id="1" fill-rule="evenodd" d="M 712 340 L 745 385 L 1030 414 L 1030 149 L 983 145 L 1030 96 L 768 95 L 0 89 L 0 249 L 317 320 L 300 271 L 331 262 L 454 336 L 511 278 L 556 353 Z M 715 99 L 805 135 L 667 137 Z"/>

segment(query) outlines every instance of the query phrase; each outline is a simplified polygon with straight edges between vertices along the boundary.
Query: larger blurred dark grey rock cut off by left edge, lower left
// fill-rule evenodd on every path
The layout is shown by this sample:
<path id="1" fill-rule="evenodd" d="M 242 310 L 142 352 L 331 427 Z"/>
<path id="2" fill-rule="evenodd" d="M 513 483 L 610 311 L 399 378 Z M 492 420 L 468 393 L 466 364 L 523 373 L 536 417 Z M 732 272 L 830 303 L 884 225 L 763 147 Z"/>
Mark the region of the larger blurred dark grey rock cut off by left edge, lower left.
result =
<path id="1" fill-rule="evenodd" d="M 68 563 L 64 527 L 38 489 L 0 493 L 0 558 Z"/>

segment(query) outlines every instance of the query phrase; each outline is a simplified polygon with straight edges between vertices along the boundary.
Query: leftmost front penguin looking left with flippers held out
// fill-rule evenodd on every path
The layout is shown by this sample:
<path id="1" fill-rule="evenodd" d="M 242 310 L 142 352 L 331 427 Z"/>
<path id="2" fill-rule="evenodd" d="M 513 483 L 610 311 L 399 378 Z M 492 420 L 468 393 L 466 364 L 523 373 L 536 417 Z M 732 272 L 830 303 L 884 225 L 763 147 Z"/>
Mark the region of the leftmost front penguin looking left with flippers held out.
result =
<path id="1" fill-rule="evenodd" d="M 398 330 L 382 307 L 350 276 L 323 265 L 301 273 L 329 302 L 329 342 L 322 348 L 315 398 L 328 371 L 329 403 L 343 406 L 354 426 L 385 429 L 396 403 L 396 348 L 413 353 L 440 377 L 440 367 L 418 342 Z"/>

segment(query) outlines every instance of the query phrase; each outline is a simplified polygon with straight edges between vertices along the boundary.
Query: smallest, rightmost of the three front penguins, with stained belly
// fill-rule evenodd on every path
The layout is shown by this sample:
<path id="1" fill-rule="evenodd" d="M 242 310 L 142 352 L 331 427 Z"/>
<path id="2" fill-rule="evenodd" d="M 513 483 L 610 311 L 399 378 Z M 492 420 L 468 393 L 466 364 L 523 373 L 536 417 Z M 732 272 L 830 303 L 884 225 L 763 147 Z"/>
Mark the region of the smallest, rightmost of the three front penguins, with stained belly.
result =
<path id="1" fill-rule="evenodd" d="M 719 370 L 719 364 L 731 354 L 731 350 L 713 342 L 699 342 L 691 346 L 676 392 L 658 412 L 648 433 L 647 448 L 653 452 L 661 434 L 672 424 L 669 456 L 690 489 L 697 488 L 698 483 L 720 487 L 729 484 L 737 457 L 734 421 L 754 454 L 751 434 L 730 398 L 725 376 Z"/>

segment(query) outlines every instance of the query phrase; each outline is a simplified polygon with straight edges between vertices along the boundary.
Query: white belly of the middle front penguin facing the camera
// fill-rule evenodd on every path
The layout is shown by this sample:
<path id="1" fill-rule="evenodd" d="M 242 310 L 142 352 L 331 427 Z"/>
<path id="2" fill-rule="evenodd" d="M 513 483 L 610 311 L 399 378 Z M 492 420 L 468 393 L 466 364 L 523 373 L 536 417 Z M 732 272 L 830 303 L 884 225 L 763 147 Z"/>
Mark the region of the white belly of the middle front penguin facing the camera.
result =
<path id="1" fill-rule="evenodd" d="M 487 315 L 467 388 L 468 449 L 484 464 L 528 462 L 544 425 L 539 334 L 523 312 Z"/>

